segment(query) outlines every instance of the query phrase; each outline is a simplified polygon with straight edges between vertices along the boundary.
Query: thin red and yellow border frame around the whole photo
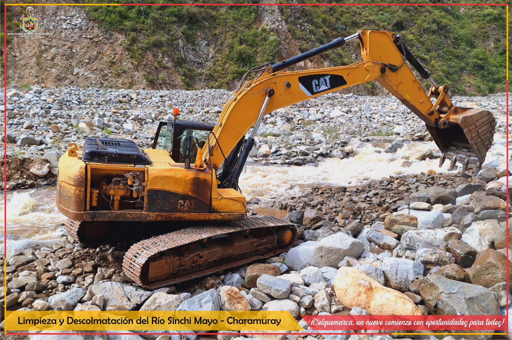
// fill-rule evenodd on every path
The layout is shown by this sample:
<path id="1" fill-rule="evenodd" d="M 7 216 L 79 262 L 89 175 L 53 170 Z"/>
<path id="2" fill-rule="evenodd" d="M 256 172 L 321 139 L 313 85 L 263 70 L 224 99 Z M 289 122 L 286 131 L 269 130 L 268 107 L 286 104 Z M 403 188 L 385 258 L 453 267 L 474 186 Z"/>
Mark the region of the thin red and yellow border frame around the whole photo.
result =
<path id="1" fill-rule="evenodd" d="M 9 4 L 9 6 L 34 6 L 34 5 L 41 5 L 41 6 L 49 6 L 49 5 L 57 5 L 57 6 L 84 6 L 88 4 Z M 92 4 L 91 4 L 92 5 Z M 96 5 L 96 4 L 94 4 Z M 114 4 L 111 4 L 114 5 Z M 117 4 L 116 4 L 117 5 Z M 226 4 L 226 3 L 220 3 L 220 4 L 119 4 L 121 6 L 506 6 L 506 44 L 507 44 L 507 50 L 506 50 L 506 169 L 507 172 L 508 169 L 508 161 L 509 161 L 509 154 L 508 154 L 508 4 Z M 4 4 L 4 270 L 6 266 L 7 261 L 7 4 Z M 507 173 L 508 175 L 508 173 Z M 509 208 L 508 204 L 508 176 L 506 176 L 506 196 L 507 196 L 507 211 Z M 506 218 L 506 230 L 508 235 L 508 213 Z M 506 256 L 508 259 L 508 236 L 506 237 Z M 508 292 L 508 261 L 506 266 L 506 277 L 507 277 L 507 292 Z M 5 278 L 5 276 L 4 276 Z M 4 282 L 5 288 L 7 289 L 7 281 Z M 508 294 L 507 294 L 507 306 L 508 306 Z M 4 305 L 4 312 L 7 311 L 7 307 Z M 508 308 L 506 311 L 506 320 L 508 325 Z M 6 330 L 4 330 L 5 335 L 33 335 L 34 333 L 7 333 Z M 47 335 L 68 335 L 71 333 L 45 333 Z M 131 335 L 131 334 L 137 334 L 137 335 L 145 335 L 145 334 L 154 334 L 154 335 L 167 335 L 167 334 L 180 334 L 180 335 L 219 335 L 219 334 L 225 334 L 225 333 L 73 333 L 77 335 L 109 335 L 109 334 L 117 334 L 117 335 Z M 367 334 L 367 335 L 391 335 L 393 333 L 230 333 L 233 335 L 290 335 L 290 334 L 311 334 L 311 335 L 361 335 L 361 334 Z M 407 333 L 404 333 L 407 334 Z M 453 333 L 446 333 L 446 334 L 453 334 Z M 507 334 L 508 334 L 508 328 L 507 328 Z"/>

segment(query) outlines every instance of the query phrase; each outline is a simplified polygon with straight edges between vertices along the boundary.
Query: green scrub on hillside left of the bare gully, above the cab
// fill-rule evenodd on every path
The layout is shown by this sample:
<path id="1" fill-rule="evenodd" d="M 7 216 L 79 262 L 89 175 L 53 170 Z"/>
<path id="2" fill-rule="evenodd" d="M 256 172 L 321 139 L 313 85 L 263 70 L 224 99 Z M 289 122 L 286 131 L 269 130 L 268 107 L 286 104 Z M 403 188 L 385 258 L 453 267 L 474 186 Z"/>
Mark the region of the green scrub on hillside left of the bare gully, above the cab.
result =
<path id="1" fill-rule="evenodd" d="M 276 55 L 279 38 L 259 27 L 256 6 L 88 6 L 87 10 L 105 29 L 126 35 L 133 65 L 143 64 L 144 79 L 155 87 L 170 80 L 165 76 L 165 58 L 175 65 L 186 89 L 232 88 L 249 68 L 280 59 Z M 181 51 L 183 44 L 204 40 L 215 46 L 215 60 L 200 69 L 185 60 Z M 148 60 L 152 60 L 150 67 Z"/>

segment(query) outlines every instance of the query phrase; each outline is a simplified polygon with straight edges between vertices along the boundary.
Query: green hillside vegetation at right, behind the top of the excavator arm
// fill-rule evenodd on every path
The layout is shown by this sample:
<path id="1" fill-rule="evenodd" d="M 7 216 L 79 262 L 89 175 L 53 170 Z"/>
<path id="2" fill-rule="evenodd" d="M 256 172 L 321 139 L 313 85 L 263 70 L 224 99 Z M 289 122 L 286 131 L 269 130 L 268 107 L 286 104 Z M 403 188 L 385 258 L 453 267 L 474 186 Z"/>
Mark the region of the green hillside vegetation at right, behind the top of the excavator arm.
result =
<path id="1" fill-rule="evenodd" d="M 310 1 L 298 0 L 306 2 Z M 449 84 L 453 93 L 505 91 L 505 6 L 281 6 L 280 10 L 302 52 L 360 29 L 388 30 L 401 34 L 437 83 Z M 343 65 L 353 61 L 351 53 L 347 45 L 327 55 L 333 64 Z M 425 89 L 428 86 L 425 82 Z"/>

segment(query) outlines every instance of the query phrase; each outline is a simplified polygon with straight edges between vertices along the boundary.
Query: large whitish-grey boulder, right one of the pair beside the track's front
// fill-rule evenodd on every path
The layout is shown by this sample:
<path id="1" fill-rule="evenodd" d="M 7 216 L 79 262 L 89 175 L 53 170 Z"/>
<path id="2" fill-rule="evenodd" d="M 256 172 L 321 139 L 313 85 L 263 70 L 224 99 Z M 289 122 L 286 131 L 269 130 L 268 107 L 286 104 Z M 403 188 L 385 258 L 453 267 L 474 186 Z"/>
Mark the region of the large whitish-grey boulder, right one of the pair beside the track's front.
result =
<path id="1" fill-rule="evenodd" d="M 325 265 L 336 267 L 345 256 L 358 258 L 364 250 L 361 241 L 344 233 L 322 238 L 313 250 L 310 263 L 318 268 Z"/>

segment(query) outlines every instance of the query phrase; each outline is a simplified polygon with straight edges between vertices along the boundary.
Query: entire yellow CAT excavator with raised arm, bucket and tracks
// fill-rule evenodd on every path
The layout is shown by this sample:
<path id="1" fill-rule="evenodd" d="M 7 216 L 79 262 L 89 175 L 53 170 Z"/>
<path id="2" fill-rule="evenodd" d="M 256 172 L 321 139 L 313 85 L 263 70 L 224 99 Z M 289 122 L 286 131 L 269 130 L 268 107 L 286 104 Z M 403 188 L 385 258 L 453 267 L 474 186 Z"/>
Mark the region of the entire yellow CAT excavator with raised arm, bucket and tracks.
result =
<path id="1" fill-rule="evenodd" d="M 359 41 L 362 61 L 282 71 L 352 40 Z M 409 65 L 431 84 L 429 93 Z M 159 124 L 152 149 L 113 138 L 89 137 L 82 148 L 72 143 L 59 160 L 57 182 L 68 235 L 86 245 L 106 242 L 114 228 L 136 236 L 123 270 L 148 288 L 288 250 L 294 225 L 273 216 L 247 217 L 237 191 L 261 120 L 273 110 L 373 80 L 423 119 L 441 150 L 439 166 L 448 159 L 451 168 L 460 162 L 462 171 L 479 171 L 493 141 L 492 113 L 453 105 L 449 87 L 432 79 L 400 35 L 362 30 L 250 69 L 215 125 L 179 119 L 176 110 Z"/>

